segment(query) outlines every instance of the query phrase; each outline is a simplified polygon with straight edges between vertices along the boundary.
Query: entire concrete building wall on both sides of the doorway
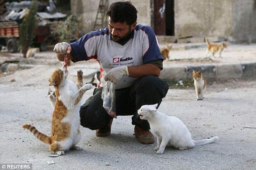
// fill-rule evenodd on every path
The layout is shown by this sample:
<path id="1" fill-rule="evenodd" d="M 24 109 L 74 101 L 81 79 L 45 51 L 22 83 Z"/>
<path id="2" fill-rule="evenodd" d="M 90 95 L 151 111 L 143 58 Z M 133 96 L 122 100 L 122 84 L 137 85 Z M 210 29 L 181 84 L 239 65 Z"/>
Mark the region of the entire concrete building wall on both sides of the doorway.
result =
<path id="1" fill-rule="evenodd" d="M 125 0 L 109 0 L 113 2 Z M 71 0 L 71 13 L 82 16 L 83 33 L 93 29 L 100 0 Z M 137 23 L 152 26 L 153 0 L 131 0 Z M 256 41 L 256 0 L 175 0 L 175 36 L 228 37 Z M 167 16 L 168 17 L 168 16 Z"/>

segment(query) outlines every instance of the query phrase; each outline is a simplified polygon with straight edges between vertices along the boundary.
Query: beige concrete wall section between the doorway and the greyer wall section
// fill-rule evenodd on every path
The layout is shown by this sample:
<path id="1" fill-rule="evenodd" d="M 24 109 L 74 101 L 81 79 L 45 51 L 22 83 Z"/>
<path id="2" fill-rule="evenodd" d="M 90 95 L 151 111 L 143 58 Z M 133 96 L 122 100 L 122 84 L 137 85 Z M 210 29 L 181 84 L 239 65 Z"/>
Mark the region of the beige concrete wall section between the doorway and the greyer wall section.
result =
<path id="1" fill-rule="evenodd" d="M 232 0 L 175 0 L 175 36 L 232 34 Z"/>

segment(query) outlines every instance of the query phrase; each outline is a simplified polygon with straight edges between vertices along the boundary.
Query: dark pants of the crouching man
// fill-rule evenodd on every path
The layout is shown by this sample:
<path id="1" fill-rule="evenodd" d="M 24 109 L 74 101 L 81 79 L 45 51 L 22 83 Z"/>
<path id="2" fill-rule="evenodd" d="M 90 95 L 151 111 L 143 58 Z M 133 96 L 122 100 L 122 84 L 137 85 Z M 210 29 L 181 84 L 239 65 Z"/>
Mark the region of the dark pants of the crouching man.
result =
<path id="1" fill-rule="evenodd" d="M 168 85 L 159 77 L 145 76 L 137 79 L 132 86 L 116 90 L 116 115 L 133 115 L 133 125 L 149 130 L 148 121 L 140 119 L 137 110 L 142 105 L 158 103 L 159 106 L 167 91 Z M 91 130 L 103 128 L 113 119 L 102 107 L 101 93 L 102 88 L 95 88 L 93 95 L 81 106 L 81 125 L 85 128 Z"/>

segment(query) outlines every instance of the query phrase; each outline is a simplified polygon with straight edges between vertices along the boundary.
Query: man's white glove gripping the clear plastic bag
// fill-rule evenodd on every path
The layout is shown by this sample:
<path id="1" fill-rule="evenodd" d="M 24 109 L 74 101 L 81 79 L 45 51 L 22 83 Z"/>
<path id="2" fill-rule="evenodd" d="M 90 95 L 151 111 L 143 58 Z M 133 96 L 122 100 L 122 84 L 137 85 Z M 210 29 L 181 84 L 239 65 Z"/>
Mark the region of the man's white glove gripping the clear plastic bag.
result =
<path id="1" fill-rule="evenodd" d="M 107 75 L 105 75 L 104 79 L 105 81 L 109 80 L 110 82 L 114 82 L 114 84 L 116 84 L 123 76 L 129 76 L 127 66 L 112 68 Z"/>

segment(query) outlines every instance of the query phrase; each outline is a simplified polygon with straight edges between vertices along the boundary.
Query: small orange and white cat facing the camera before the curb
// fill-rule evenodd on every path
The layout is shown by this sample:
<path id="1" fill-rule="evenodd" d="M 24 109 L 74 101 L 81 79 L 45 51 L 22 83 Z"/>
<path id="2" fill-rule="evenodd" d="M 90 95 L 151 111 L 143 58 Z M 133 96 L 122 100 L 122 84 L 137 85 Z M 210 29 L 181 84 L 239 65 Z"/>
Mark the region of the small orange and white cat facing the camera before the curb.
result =
<path id="1" fill-rule="evenodd" d="M 193 79 L 194 79 L 194 87 L 197 93 L 197 100 L 203 100 L 203 92 L 206 88 L 206 79 L 201 71 L 194 71 L 193 70 Z"/>

